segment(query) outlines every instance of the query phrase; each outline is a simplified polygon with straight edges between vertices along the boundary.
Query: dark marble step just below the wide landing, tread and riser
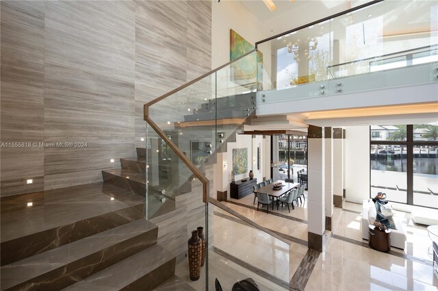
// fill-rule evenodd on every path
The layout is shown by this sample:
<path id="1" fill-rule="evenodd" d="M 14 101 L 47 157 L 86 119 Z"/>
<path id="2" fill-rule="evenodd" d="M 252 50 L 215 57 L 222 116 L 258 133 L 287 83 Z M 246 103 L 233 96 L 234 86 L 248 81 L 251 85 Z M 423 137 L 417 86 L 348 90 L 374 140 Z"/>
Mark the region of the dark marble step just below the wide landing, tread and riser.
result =
<path id="1" fill-rule="evenodd" d="M 157 243 L 158 227 L 136 220 L 2 266 L 1 290 L 60 290 Z"/>

